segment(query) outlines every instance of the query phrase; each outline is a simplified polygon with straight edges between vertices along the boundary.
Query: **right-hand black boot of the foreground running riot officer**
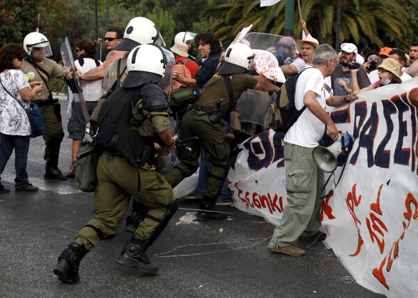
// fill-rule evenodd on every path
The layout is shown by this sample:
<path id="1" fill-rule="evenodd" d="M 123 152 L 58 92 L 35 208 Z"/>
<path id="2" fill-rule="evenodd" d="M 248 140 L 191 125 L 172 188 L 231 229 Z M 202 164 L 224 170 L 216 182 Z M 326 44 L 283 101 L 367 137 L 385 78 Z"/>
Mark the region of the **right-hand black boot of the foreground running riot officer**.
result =
<path id="1" fill-rule="evenodd" d="M 157 274 L 158 267 L 153 265 L 150 258 L 148 258 L 148 255 L 146 255 L 143 249 L 143 246 L 145 245 L 146 239 L 134 234 L 130 241 L 125 244 L 121 255 L 116 258 L 116 262 L 125 267 L 137 269 L 143 274 Z"/>

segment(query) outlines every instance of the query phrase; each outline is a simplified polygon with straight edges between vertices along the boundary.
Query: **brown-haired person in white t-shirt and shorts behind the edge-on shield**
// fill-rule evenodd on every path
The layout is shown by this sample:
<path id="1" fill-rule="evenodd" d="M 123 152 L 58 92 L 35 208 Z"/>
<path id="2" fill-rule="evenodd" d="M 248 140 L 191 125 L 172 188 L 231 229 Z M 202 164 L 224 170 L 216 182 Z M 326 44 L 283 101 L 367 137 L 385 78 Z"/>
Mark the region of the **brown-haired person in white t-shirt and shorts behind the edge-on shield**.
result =
<path id="1" fill-rule="evenodd" d="M 102 64 L 101 61 L 95 58 L 95 52 L 98 47 L 98 42 L 88 38 L 84 38 L 75 43 L 77 55 L 79 59 L 75 61 L 77 72 L 86 73 L 95 67 Z M 87 112 L 89 115 L 93 112 L 98 104 L 98 100 L 102 97 L 102 80 L 95 81 L 81 81 L 80 86 L 83 91 L 84 102 L 86 103 Z M 75 165 L 77 164 L 77 153 L 86 135 L 86 124 L 79 119 L 77 108 L 80 111 L 81 107 L 77 107 L 79 103 L 74 100 L 71 102 L 71 117 L 68 120 L 68 137 L 72 139 L 71 143 L 71 165 L 68 170 L 67 177 L 75 177 Z"/>

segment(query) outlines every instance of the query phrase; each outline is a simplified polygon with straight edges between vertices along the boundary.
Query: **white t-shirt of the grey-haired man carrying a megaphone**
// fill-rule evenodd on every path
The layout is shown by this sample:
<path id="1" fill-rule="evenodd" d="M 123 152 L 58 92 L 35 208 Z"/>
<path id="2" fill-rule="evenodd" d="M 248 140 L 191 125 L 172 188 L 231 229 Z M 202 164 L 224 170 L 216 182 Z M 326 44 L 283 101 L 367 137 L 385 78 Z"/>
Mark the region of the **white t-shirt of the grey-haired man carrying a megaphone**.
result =
<path id="1" fill-rule="evenodd" d="M 330 94 L 324 88 L 323 74 L 317 68 L 309 68 L 297 79 L 295 91 L 295 106 L 297 110 L 304 106 L 303 100 L 308 91 L 316 94 L 316 100 L 324 108 Z M 311 111 L 305 109 L 295 124 L 284 135 L 284 142 L 302 147 L 316 147 L 325 133 L 325 124 Z"/>

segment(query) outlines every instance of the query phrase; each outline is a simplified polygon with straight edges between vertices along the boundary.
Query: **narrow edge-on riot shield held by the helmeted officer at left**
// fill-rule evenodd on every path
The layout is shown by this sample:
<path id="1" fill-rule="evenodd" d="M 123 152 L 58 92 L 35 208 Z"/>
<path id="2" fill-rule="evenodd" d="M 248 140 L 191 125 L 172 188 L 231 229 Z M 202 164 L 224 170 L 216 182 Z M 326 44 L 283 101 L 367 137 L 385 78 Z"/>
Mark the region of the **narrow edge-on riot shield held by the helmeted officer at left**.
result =
<path id="1" fill-rule="evenodd" d="M 67 70 L 72 70 L 72 86 L 69 85 L 72 95 L 74 96 L 75 107 L 77 110 L 77 115 L 80 122 L 83 124 L 88 123 L 88 111 L 86 103 L 84 102 L 83 90 L 80 87 L 79 78 L 77 77 L 77 68 L 75 68 L 74 58 L 72 57 L 70 40 L 65 36 L 65 41 L 61 44 L 60 47 L 61 58 L 63 59 L 64 68 Z"/>

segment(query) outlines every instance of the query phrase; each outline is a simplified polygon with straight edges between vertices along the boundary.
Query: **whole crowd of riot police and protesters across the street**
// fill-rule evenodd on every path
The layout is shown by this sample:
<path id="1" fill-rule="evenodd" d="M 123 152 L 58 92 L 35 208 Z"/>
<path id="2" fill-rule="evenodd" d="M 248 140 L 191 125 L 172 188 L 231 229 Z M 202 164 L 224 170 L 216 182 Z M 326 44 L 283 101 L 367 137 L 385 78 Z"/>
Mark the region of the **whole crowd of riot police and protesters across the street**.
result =
<path id="1" fill-rule="evenodd" d="M 314 163 L 311 151 L 324 131 L 332 140 L 339 137 L 327 106 L 346 105 L 364 91 L 400 84 L 418 73 L 418 43 L 412 43 L 409 55 L 390 47 L 382 47 L 379 52 L 364 48 L 359 53 L 353 43 L 342 43 L 337 53 L 312 37 L 303 20 L 300 25 L 305 38 L 285 36 L 273 47 L 284 75 L 300 73 L 295 105 L 297 110 L 307 107 L 284 135 L 289 200 L 268 244 L 272 253 L 293 256 L 305 253 L 294 245 L 296 239 L 326 237 L 320 232 L 319 217 L 324 173 Z M 247 89 L 272 94 L 280 89 L 277 82 L 251 73 L 255 54 L 250 45 L 234 43 L 224 49 L 210 32 L 180 32 L 169 52 L 164 49 L 158 27 L 144 17 L 134 17 L 125 31 L 108 29 L 104 40 L 109 54 L 103 62 L 95 58 L 97 42 L 77 40 L 76 69 L 70 71 L 47 58 L 52 50 L 42 33 L 29 33 L 23 46 L 8 44 L 0 49 L 0 172 L 15 149 L 17 192 L 38 191 L 26 172 L 31 126 L 20 104 L 32 100 L 42 112 L 45 179 L 75 177 L 77 152 L 86 135 L 80 110 L 86 109 L 91 115 L 91 135 L 100 147 L 94 216 L 61 253 L 54 268 L 54 274 L 65 283 L 79 281 L 84 256 L 100 240 L 114 237 L 131 200 L 132 214 L 127 217 L 127 225 L 133 235 L 116 261 L 143 274 L 157 274 L 158 267 L 146 250 L 178 208 L 173 188 L 199 166 L 197 220 L 225 218 L 216 205 L 233 202 L 226 185 L 231 165 L 231 138 L 226 137 L 229 113 L 234 109 L 236 112 L 236 103 Z M 189 54 L 193 42 L 199 50 L 196 61 Z M 174 61 L 172 68 L 170 57 Z M 52 98 L 49 83 L 59 78 L 72 85 L 74 72 L 81 82 L 84 100 L 70 103 L 67 131 L 72 139 L 71 161 L 68 173 L 63 174 L 58 163 L 65 133 L 60 105 Z M 172 80 L 168 89 L 162 86 L 164 78 Z M 186 148 L 176 146 L 179 139 L 171 129 L 167 91 L 189 85 L 201 92 L 194 105 L 176 115 L 181 119 L 180 139 L 189 140 Z M 174 149 L 178 161 L 162 174 L 162 157 Z M 0 193 L 9 191 L 0 180 Z"/>

